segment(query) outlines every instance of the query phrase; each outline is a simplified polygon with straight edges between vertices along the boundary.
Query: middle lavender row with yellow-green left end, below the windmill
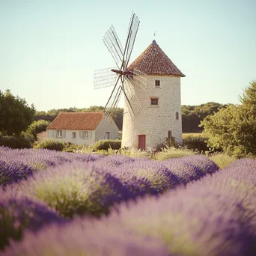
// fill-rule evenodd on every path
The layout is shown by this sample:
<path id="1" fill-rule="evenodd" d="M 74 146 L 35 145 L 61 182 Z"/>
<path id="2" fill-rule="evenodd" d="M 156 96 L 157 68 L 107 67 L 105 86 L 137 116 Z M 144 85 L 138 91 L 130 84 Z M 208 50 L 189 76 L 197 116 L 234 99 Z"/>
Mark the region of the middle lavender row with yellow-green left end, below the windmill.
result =
<path id="1" fill-rule="evenodd" d="M 180 161 L 189 165 L 192 159 Z M 172 168 L 177 170 L 179 166 L 180 162 L 177 162 Z M 181 167 L 180 173 L 183 172 L 186 172 L 186 168 Z M 196 178 L 206 173 L 201 171 L 201 176 Z M 195 180 L 192 175 L 191 180 Z M 100 216 L 109 213 L 109 207 L 115 203 L 141 195 L 159 195 L 179 184 L 178 175 L 161 162 L 112 156 L 94 161 L 93 164 L 72 162 L 57 165 L 34 174 L 34 177 L 10 189 L 39 198 L 62 216 L 73 217 L 76 214 Z"/>

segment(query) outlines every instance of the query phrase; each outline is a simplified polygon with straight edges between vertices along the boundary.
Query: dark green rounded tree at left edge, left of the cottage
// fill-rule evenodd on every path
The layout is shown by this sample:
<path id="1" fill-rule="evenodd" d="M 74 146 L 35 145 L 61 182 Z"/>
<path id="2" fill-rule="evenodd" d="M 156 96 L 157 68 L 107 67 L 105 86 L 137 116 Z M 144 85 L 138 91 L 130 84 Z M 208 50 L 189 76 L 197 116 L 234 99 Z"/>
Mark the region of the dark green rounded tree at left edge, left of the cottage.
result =
<path id="1" fill-rule="evenodd" d="M 18 136 L 32 122 L 34 106 L 19 96 L 14 97 L 10 90 L 0 91 L 0 132 L 3 135 Z"/>

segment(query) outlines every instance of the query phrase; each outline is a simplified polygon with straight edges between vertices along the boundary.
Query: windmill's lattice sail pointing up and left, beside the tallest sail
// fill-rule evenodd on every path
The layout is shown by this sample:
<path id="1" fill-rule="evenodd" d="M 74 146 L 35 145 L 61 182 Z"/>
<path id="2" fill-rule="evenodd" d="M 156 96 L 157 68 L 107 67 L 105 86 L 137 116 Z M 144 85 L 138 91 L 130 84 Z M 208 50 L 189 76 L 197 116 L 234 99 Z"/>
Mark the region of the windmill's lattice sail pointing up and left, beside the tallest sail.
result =
<path id="1" fill-rule="evenodd" d="M 121 68 L 121 64 L 123 63 L 124 49 L 113 25 L 108 31 L 106 31 L 106 34 L 103 37 L 103 42 L 114 58 L 115 64 L 117 64 L 118 68 Z"/>

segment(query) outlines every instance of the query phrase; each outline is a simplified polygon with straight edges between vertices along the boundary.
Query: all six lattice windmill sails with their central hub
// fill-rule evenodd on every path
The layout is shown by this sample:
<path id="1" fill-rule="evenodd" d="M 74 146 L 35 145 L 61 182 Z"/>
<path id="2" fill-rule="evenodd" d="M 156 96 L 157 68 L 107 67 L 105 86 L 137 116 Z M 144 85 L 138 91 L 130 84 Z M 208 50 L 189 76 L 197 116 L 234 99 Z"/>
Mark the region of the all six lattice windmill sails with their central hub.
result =
<path id="1" fill-rule="evenodd" d="M 135 42 L 135 37 L 138 32 L 139 20 L 135 13 L 129 21 L 127 41 L 123 48 L 118 34 L 115 32 L 113 25 L 106 31 L 103 37 L 103 42 L 109 49 L 114 58 L 116 67 L 95 70 L 94 71 L 94 88 L 106 88 L 114 86 L 109 100 L 103 110 L 103 115 L 106 117 L 109 124 L 111 123 L 115 110 L 118 107 L 118 102 L 121 94 L 124 93 L 125 100 L 131 115 L 132 120 L 138 117 L 142 110 L 138 97 L 135 95 L 133 86 L 141 86 L 144 90 L 147 89 L 147 75 L 139 70 L 128 70 L 129 58 L 132 54 L 132 49 Z"/>

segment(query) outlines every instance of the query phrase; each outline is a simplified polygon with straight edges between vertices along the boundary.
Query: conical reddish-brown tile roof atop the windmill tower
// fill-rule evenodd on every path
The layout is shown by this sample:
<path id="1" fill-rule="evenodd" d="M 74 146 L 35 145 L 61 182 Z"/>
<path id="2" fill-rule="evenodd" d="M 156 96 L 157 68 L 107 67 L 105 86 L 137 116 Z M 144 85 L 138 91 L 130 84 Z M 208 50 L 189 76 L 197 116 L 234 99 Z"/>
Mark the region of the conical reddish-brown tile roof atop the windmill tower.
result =
<path id="1" fill-rule="evenodd" d="M 155 40 L 129 65 L 128 70 L 134 68 L 147 75 L 185 76 L 174 63 L 165 55 Z"/>

